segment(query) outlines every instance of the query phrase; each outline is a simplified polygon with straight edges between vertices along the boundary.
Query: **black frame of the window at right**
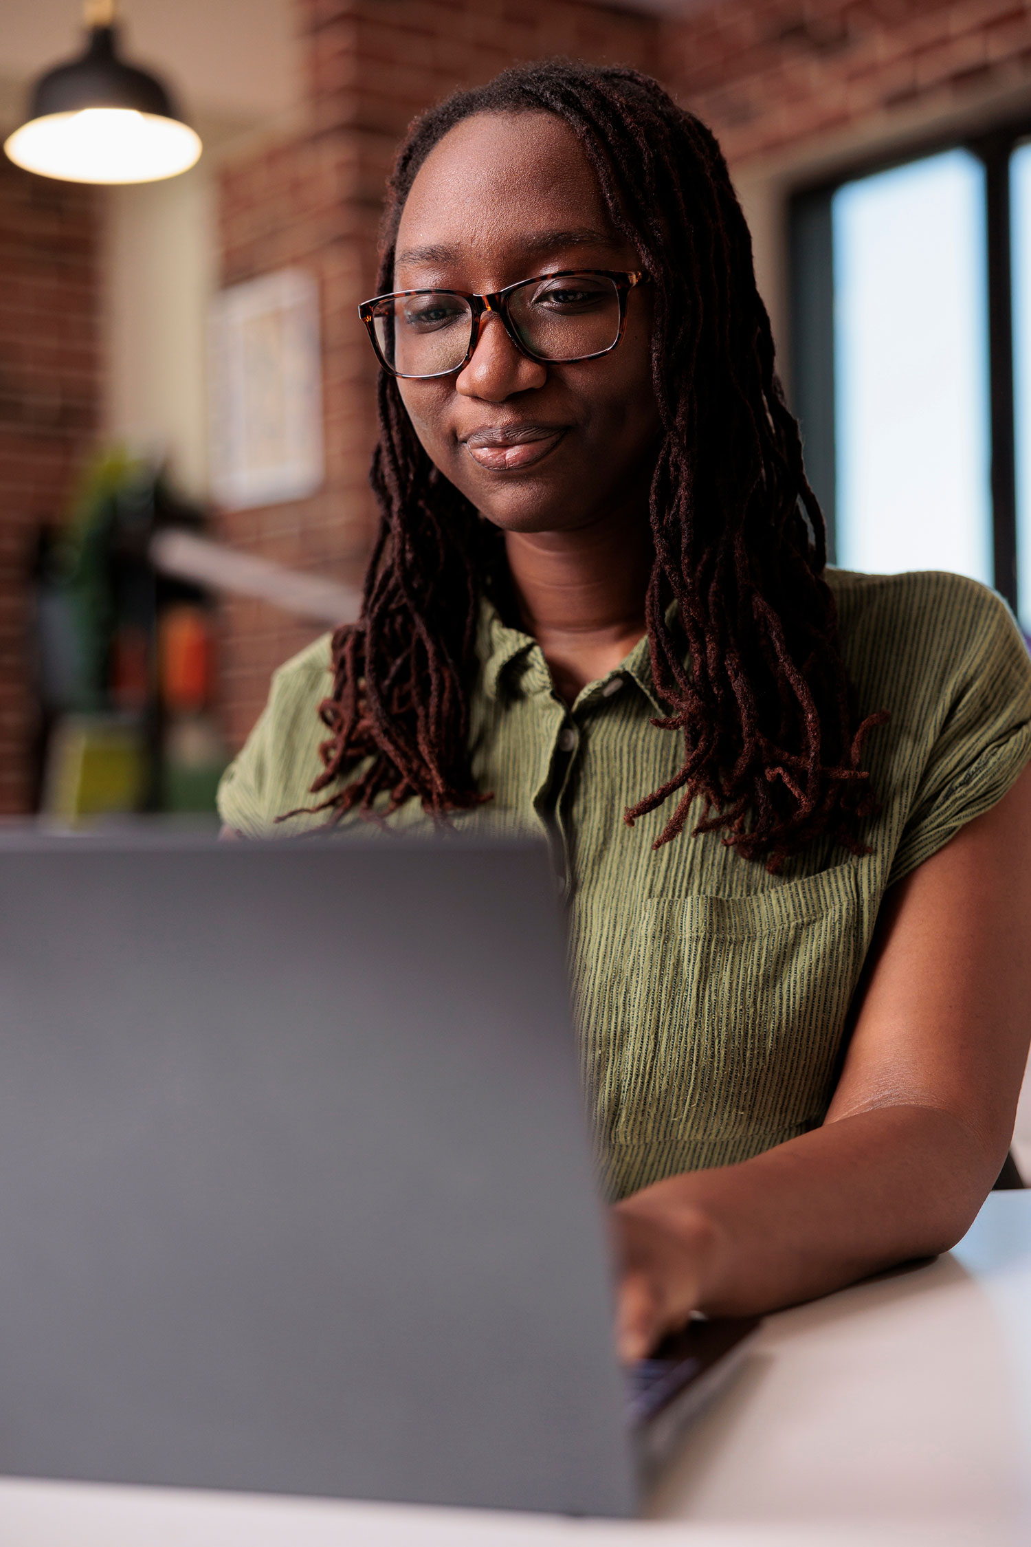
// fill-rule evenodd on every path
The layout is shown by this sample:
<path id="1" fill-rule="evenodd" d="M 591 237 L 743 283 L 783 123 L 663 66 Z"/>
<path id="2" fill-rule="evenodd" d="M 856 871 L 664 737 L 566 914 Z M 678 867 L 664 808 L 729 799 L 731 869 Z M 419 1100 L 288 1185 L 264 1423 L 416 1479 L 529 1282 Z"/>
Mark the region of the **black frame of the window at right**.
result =
<path id="1" fill-rule="evenodd" d="M 1012 342 L 1012 232 L 1009 159 L 1031 139 L 1031 116 L 975 133 L 935 135 L 881 152 L 795 187 L 788 200 L 788 393 L 802 427 L 810 483 L 827 520 L 827 555 L 836 552 L 835 271 L 832 200 L 858 178 L 890 172 L 948 150 L 966 150 L 985 167 L 988 277 L 988 424 L 991 455 L 992 574 L 1017 611 L 1017 466 Z M 1028 599 L 1031 603 L 1031 599 Z M 1031 606 L 1029 606 L 1031 610 Z"/>

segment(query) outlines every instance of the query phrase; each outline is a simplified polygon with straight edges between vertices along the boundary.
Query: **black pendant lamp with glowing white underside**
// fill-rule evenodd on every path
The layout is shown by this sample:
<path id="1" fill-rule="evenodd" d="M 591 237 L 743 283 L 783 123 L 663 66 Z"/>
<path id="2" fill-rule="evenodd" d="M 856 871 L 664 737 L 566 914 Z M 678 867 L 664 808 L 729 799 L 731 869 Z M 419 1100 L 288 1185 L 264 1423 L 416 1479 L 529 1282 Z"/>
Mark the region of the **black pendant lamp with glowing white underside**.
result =
<path id="1" fill-rule="evenodd" d="M 156 183 L 201 155 L 155 76 L 117 54 L 114 0 L 87 0 L 87 46 L 42 76 L 28 121 L 5 142 L 26 172 L 65 183 Z"/>

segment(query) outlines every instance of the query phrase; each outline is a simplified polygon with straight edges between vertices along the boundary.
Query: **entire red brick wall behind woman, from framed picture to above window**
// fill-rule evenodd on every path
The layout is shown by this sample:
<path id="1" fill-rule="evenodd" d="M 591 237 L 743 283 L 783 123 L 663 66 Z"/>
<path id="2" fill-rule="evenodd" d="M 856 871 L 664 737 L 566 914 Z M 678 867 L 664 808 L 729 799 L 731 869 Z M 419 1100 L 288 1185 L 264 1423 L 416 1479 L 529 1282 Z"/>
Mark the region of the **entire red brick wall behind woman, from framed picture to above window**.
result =
<path id="1" fill-rule="evenodd" d="M 383 179 L 413 113 L 456 85 L 547 54 L 657 73 L 713 125 L 739 175 L 810 161 L 838 135 L 890 139 L 1022 90 L 1031 102 L 1031 0 L 702 0 L 660 20 L 589 0 L 294 0 L 309 128 L 223 176 L 223 278 L 301 263 L 322 286 L 326 487 L 224 517 L 227 537 L 301 568 L 357 579 L 371 532 L 373 356 L 356 302 L 374 286 Z M 226 724 L 238 744 L 274 665 L 312 631 L 230 606 Z"/>

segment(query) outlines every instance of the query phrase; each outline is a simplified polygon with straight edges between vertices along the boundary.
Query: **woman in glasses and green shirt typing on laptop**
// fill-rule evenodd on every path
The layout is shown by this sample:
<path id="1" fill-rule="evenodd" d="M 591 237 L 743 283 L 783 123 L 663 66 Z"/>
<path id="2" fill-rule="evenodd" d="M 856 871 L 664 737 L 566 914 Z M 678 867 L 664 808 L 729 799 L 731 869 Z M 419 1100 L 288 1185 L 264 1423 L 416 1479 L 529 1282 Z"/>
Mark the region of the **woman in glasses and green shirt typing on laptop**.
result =
<path id="1" fill-rule="evenodd" d="M 626 1358 L 948 1248 L 1028 1052 L 1012 619 L 825 569 L 726 167 L 655 82 L 425 114 L 379 292 L 362 619 L 277 673 L 227 826 L 549 834 Z"/>

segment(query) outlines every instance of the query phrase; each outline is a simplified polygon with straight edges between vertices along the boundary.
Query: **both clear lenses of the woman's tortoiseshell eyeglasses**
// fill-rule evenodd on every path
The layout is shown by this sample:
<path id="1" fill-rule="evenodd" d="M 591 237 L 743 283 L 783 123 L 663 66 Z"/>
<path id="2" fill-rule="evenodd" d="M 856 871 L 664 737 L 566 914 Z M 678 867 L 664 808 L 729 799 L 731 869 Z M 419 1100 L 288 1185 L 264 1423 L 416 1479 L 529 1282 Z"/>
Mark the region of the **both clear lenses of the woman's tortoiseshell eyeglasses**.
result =
<path id="1" fill-rule="evenodd" d="M 527 280 L 505 299 L 516 337 L 543 360 L 603 354 L 620 336 L 620 292 L 601 274 Z M 373 322 L 380 353 L 399 376 L 454 371 L 473 339 L 473 309 L 450 291 L 386 297 Z"/>

